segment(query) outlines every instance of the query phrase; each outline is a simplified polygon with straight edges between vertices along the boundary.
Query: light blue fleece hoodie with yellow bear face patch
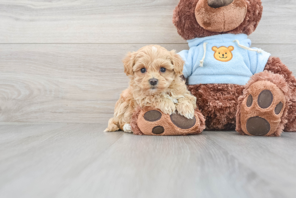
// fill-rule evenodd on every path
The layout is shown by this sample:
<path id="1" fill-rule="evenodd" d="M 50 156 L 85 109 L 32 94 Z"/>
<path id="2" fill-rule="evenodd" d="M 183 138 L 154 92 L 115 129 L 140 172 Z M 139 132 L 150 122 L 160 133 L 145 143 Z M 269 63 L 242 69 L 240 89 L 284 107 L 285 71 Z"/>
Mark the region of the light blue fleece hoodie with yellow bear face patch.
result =
<path id="1" fill-rule="evenodd" d="M 262 72 L 270 54 L 249 48 L 246 34 L 218 34 L 188 40 L 189 50 L 178 54 L 185 61 L 183 75 L 190 85 L 245 85 L 250 76 Z"/>

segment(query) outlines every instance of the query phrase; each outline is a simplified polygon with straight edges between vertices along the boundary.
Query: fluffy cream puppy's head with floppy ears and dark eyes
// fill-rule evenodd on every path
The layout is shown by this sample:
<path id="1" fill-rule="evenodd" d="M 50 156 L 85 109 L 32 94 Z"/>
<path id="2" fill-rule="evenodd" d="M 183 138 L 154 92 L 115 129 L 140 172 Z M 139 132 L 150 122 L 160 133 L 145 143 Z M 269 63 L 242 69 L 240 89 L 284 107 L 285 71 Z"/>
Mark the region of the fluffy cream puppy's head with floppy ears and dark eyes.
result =
<path id="1" fill-rule="evenodd" d="M 124 71 L 133 76 L 134 86 L 150 94 L 166 92 L 170 84 L 182 75 L 184 61 L 158 45 L 141 48 L 124 59 Z"/>

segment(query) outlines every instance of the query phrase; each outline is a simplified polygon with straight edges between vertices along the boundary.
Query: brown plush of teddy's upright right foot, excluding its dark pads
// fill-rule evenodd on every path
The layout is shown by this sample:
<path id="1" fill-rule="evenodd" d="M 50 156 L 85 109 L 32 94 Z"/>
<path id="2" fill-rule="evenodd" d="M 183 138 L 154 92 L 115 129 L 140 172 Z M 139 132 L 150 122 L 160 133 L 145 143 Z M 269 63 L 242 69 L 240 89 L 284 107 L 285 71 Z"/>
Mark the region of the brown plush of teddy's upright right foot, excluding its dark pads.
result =
<path id="1" fill-rule="evenodd" d="M 257 105 L 257 98 L 259 93 L 266 89 L 272 92 L 273 101 L 268 108 L 262 109 Z M 246 106 L 246 99 L 249 94 L 253 96 L 251 107 Z M 265 118 L 271 126 L 269 133 L 265 136 L 279 136 L 284 129 L 284 125 L 287 123 L 285 117 L 290 105 L 289 101 L 290 90 L 282 75 L 274 74 L 267 70 L 256 73 L 251 77 L 243 91 L 243 95 L 238 99 L 236 131 L 242 135 L 251 135 L 246 130 L 246 120 L 250 117 L 259 116 Z M 276 115 L 274 109 L 279 102 L 283 103 L 283 109 L 281 113 Z"/>

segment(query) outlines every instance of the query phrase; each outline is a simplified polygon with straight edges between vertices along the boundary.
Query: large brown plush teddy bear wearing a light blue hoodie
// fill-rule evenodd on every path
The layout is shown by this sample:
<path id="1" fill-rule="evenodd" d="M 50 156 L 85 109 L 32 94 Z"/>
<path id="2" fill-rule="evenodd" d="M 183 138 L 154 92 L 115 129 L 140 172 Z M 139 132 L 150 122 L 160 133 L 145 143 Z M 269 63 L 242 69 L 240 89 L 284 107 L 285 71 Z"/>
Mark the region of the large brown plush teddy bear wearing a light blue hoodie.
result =
<path id="1" fill-rule="evenodd" d="M 250 48 L 248 35 L 262 10 L 260 0 L 180 0 L 176 6 L 173 23 L 190 47 L 178 53 L 185 61 L 183 76 L 205 119 L 194 130 L 258 136 L 296 131 L 295 77 L 278 57 Z M 134 113 L 136 134 L 145 134 L 148 121 L 140 117 L 152 110 Z M 168 116 L 162 122 L 173 121 Z"/>

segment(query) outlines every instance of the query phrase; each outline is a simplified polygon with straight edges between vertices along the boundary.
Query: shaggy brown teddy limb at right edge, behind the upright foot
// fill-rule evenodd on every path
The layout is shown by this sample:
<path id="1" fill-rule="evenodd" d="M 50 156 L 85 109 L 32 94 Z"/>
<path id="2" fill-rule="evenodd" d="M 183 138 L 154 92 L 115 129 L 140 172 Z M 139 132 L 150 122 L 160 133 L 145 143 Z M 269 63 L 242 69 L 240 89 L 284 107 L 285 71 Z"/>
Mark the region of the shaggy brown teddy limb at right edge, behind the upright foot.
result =
<path id="1" fill-rule="evenodd" d="M 296 131 L 296 79 L 293 76 L 293 73 L 278 57 L 270 57 L 264 70 L 278 73 L 285 78 L 290 90 L 290 105 L 287 116 L 285 117 L 287 123 L 285 124 L 284 131 Z"/>

